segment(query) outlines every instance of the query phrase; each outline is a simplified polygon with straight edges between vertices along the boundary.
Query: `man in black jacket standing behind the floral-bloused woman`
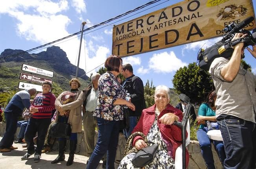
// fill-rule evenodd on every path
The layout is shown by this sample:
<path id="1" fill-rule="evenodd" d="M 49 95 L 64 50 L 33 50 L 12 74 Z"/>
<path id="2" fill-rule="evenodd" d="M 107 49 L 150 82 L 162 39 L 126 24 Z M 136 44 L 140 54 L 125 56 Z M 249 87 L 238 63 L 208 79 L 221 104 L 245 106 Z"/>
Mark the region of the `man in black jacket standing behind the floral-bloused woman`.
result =
<path id="1" fill-rule="evenodd" d="M 142 110 L 145 109 L 144 86 L 140 77 L 133 74 L 133 67 L 129 63 L 123 65 L 122 74 L 126 78 L 125 81 L 123 81 L 122 86 L 127 90 L 127 93 L 130 94 L 131 102 L 135 106 L 135 111 L 128 109 L 129 128 L 123 129 L 123 135 L 125 138 L 129 138 L 133 128 L 137 124 L 137 117 L 140 116 Z"/>

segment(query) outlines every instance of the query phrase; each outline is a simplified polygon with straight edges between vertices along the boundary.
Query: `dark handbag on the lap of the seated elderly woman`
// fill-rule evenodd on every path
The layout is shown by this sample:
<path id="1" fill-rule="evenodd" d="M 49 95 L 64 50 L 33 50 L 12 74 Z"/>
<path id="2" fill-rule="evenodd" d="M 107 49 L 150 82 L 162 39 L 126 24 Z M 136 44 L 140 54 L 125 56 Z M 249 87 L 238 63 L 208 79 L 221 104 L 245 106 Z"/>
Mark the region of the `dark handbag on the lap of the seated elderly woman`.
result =
<path id="1" fill-rule="evenodd" d="M 136 155 L 132 160 L 132 164 L 134 165 L 134 167 L 144 167 L 145 165 L 150 164 L 155 158 L 155 155 L 158 149 L 158 144 L 154 142 L 145 142 L 145 143 L 149 143 L 153 145 L 144 147 L 136 153 Z"/>

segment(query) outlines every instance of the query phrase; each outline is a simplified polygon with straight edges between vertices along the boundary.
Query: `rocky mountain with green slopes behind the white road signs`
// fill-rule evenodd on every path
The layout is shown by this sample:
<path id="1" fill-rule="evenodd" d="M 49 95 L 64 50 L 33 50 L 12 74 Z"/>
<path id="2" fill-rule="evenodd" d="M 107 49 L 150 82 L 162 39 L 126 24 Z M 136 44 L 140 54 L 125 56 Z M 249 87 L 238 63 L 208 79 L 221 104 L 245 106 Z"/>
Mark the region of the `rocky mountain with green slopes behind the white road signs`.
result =
<path id="1" fill-rule="evenodd" d="M 70 63 L 66 52 L 60 47 L 48 47 L 46 51 L 37 54 L 24 52 L 17 56 L 8 57 L 20 52 L 24 51 L 5 49 L 0 54 L 0 91 L 17 89 L 18 81 L 21 81 L 19 74 L 22 72 L 23 63 L 54 72 L 53 85 L 56 85 L 56 88 L 60 88 L 60 90 L 67 90 L 69 88 L 68 81 L 76 76 L 76 66 Z M 82 76 L 79 79 L 82 82 L 81 88 L 83 89 L 87 86 L 88 76 L 81 68 L 79 68 L 78 73 L 78 77 L 80 76 Z"/>

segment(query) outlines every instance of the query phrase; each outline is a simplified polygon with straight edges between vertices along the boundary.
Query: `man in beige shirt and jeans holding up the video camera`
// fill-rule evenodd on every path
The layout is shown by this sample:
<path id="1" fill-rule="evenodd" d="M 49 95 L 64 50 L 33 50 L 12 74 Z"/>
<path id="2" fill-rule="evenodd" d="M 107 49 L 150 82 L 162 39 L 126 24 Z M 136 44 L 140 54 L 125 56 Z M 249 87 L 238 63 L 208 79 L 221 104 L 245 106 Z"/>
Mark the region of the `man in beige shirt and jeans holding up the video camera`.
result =
<path id="1" fill-rule="evenodd" d="M 245 36 L 236 33 L 232 41 Z M 243 45 L 234 46 L 229 59 L 215 58 L 209 70 L 217 93 L 216 119 L 227 156 L 225 169 L 255 169 L 256 163 L 256 76 L 240 66 Z"/>

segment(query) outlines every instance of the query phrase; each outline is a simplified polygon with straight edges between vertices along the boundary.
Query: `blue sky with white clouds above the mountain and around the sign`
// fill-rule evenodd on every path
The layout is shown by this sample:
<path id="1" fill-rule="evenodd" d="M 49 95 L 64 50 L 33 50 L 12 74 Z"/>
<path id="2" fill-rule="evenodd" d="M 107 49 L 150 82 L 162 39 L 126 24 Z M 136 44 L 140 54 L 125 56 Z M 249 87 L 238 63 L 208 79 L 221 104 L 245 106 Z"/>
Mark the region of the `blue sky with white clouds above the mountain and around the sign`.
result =
<path id="1" fill-rule="evenodd" d="M 44 45 L 79 32 L 81 23 L 84 21 L 87 22 L 85 28 L 92 27 L 148 2 L 150 0 L 1 0 L 0 53 L 4 49 L 29 50 Z M 181 0 L 162 0 L 127 15 L 130 16 L 128 18 L 125 16 L 108 23 L 109 25 L 98 27 L 101 29 L 85 32 L 79 67 L 87 72 L 87 76 L 90 76 L 104 66 L 105 59 L 112 52 L 114 24 L 133 20 L 178 2 Z M 256 11 L 255 5 L 254 11 Z M 123 63 L 130 63 L 133 66 L 134 74 L 142 79 L 144 85 L 147 80 L 149 82 L 152 80 L 155 86 L 166 85 L 173 88 L 171 80 L 175 72 L 180 67 L 196 62 L 197 52 L 203 45 L 210 47 L 218 40 L 219 38 L 214 38 L 129 56 L 123 58 Z M 54 45 L 63 49 L 70 62 L 77 65 L 79 43 L 80 37 L 73 36 Z M 39 53 L 43 50 L 46 49 L 31 53 Z M 245 50 L 245 61 L 256 73 L 255 59 L 247 50 Z"/>

